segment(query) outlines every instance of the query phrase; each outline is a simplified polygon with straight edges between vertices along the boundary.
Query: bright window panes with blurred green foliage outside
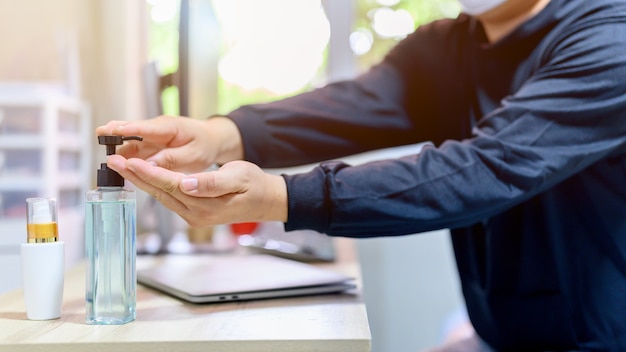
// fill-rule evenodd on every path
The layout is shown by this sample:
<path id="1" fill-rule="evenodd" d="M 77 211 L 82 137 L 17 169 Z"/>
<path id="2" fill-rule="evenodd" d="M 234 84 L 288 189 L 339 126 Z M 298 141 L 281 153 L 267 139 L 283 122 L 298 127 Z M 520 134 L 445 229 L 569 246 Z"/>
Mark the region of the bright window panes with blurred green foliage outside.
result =
<path id="1" fill-rule="evenodd" d="M 204 1 L 219 26 L 218 43 L 206 43 L 216 45 L 219 56 L 212 113 L 280 99 L 325 83 L 331 25 L 321 0 Z M 353 18 L 344 21 L 353 24 L 349 45 L 357 72 L 380 61 L 420 24 L 459 13 L 456 0 L 352 1 Z M 180 0 L 147 3 L 149 60 L 158 62 L 162 74 L 175 72 Z M 177 94 L 175 87 L 164 92 L 166 114 L 177 114 Z"/>

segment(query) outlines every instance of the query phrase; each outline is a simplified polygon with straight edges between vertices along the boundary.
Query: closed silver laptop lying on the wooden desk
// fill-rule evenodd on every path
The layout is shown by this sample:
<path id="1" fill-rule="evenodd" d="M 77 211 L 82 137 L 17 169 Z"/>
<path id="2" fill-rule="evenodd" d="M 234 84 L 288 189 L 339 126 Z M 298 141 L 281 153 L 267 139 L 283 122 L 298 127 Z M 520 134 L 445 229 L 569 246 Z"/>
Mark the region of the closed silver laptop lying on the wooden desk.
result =
<path id="1" fill-rule="evenodd" d="M 191 303 L 344 292 L 346 275 L 268 254 L 169 255 L 137 270 L 137 282 Z"/>

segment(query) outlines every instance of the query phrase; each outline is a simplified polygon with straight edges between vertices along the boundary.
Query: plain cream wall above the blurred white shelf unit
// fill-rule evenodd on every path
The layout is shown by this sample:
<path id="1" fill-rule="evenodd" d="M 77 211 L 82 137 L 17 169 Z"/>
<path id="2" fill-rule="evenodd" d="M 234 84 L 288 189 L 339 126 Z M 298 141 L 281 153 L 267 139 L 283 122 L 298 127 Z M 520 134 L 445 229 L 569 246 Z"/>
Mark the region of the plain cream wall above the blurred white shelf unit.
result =
<path id="1" fill-rule="evenodd" d="M 144 118 L 145 27 L 145 0 L 0 0 L 0 81 L 75 80 L 94 127 Z"/>

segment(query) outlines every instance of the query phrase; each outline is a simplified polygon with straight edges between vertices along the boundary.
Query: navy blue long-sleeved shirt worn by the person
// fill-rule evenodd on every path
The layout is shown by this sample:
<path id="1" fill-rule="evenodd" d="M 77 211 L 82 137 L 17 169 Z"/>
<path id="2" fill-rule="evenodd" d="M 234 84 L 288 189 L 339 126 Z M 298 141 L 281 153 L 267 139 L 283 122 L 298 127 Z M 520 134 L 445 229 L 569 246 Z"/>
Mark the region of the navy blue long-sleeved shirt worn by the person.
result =
<path id="1" fill-rule="evenodd" d="M 432 141 L 284 176 L 286 228 L 450 228 L 494 348 L 626 351 L 626 0 L 552 0 L 492 44 L 436 21 L 355 80 L 229 116 L 264 167 Z"/>

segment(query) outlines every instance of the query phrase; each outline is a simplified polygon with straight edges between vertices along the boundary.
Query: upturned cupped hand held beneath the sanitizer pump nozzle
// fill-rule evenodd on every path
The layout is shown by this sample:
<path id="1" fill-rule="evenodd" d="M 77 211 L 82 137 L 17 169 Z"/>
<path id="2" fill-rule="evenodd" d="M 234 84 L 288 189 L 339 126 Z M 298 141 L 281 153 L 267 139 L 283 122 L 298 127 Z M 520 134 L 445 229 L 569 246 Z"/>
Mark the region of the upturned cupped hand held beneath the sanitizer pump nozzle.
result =
<path id="1" fill-rule="evenodd" d="M 245 162 L 186 175 L 139 158 L 108 158 L 109 167 L 180 215 L 191 227 L 245 221 L 287 221 L 287 187 L 281 176 Z"/>

